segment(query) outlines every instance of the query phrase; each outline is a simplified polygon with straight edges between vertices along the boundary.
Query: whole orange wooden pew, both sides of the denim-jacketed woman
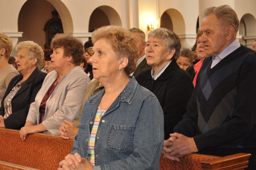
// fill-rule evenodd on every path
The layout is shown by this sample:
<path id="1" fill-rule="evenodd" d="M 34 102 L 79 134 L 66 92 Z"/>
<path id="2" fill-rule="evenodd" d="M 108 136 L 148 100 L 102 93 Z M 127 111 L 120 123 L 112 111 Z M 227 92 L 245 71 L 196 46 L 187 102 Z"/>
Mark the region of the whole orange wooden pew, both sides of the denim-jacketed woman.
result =
<path id="1" fill-rule="evenodd" d="M 43 133 L 21 140 L 18 130 L 0 128 L 0 144 L 1 170 L 56 170 L 71 152 L 73 140 Z M 226 157 L 193 153 L 174 162 L 161 155 L 160 170 L 241 170 L 247 167 L 249 157 L 247 153 Z"/>

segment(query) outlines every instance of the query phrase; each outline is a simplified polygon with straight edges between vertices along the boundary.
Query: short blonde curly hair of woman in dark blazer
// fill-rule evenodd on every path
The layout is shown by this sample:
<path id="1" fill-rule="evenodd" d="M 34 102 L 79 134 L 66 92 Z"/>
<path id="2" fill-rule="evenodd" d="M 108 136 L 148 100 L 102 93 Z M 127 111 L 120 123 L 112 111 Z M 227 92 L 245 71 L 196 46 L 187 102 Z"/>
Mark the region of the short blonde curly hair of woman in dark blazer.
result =
<path id="1" fill-rule="evenodd" d="M 20 50 L 26 50 L 30 59 L 37 59 L 37 67 L 40 67 L 40 65 L 42 64 L 44 51 L 37 43 L 33 41 L 22 41 L 16 46 L 15 50 L 17 52 L 19 52 Z"/>

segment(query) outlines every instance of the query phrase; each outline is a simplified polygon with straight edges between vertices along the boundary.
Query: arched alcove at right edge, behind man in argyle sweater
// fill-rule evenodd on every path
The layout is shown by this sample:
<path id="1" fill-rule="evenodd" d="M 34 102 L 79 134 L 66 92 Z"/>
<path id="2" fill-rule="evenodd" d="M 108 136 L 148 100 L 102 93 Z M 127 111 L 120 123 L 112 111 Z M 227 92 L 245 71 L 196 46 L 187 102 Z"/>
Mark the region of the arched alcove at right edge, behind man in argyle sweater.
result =
<path id="1" fill-rule="evenodd" d="M 247 47 L 252 47 L 254 40 L 256 39 L 256 19 L 253 15 L 247 13 L 240 19 L 239 35 L 242 38 L 239 42 Z"/>

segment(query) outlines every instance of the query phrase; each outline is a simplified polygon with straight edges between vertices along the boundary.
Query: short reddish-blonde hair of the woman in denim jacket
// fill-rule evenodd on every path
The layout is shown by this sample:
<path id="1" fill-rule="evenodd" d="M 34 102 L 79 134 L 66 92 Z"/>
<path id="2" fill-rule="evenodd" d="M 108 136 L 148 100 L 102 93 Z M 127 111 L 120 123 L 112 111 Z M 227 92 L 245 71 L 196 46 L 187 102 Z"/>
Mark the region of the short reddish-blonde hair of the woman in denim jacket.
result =
<path id="1" fill-rule="evenodd" d="M 107 39 L 111 42 L 113 51 L 117 54 L 117 59 L 128 57 L 128 64 L 124 72 L 130 75 L 136 69 L 136 63 L 139 57 L 137 39 L 128 29 L 121 26 L 103 26 L 93 31 L 92 41 L 95 44 L 99 39 Z"/>

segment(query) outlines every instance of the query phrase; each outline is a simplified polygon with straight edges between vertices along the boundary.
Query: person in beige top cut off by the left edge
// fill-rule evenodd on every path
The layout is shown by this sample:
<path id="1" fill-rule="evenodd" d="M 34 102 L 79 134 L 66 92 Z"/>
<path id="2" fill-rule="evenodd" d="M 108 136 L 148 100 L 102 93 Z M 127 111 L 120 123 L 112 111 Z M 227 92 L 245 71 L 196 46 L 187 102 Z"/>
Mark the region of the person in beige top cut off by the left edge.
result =
<path id="1" fill-rule="evenodd" d="M 19 74 L 19 72 L 8 63 L 12 50 L 13 42 L 10 37 L 4 33 L 0 33 L 0 107 L 2 105 L 2 98 L 11 79 Z"/>

